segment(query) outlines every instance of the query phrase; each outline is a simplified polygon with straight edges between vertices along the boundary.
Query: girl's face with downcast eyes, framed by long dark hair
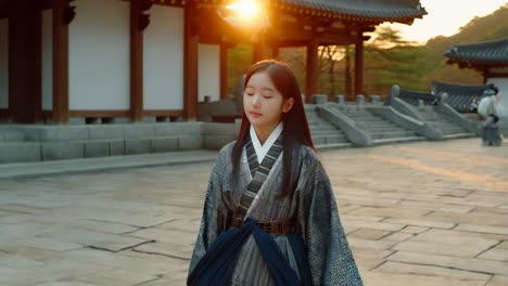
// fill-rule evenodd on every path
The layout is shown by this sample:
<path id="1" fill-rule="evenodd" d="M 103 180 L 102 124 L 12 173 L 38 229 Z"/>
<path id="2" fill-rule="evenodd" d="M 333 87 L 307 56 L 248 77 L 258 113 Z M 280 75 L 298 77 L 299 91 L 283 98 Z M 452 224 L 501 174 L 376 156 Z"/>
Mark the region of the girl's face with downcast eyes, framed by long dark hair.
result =
<path id="1" fill-rule="evenodd" d="M 243 93 L 243 109 L 256 131 L 271 132 L 293 103 L 291 98 L 284 100 L 264 72 L 252 75 Z"/>

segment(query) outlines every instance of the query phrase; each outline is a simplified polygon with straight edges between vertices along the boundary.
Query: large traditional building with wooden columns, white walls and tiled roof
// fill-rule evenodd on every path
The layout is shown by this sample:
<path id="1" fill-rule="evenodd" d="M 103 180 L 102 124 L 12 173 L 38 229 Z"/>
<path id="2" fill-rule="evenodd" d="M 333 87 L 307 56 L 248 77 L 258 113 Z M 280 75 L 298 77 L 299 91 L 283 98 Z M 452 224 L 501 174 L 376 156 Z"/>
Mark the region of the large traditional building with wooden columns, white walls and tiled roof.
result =
<path id="1" fill-rule="evenodd" d="M 259 25 L 243 28 L 231 2 L 0 0 L 0 120 L 195 120 L 205 95 L 225 96 L 227 51 L 238 43 L 254 47 L 254 61 L 306 47 L 306 94 L 318 93 L 318 47 L 355 44 L 359 94 L 366 32 L 427 14 L 419 0 L 272 0 Z"/>

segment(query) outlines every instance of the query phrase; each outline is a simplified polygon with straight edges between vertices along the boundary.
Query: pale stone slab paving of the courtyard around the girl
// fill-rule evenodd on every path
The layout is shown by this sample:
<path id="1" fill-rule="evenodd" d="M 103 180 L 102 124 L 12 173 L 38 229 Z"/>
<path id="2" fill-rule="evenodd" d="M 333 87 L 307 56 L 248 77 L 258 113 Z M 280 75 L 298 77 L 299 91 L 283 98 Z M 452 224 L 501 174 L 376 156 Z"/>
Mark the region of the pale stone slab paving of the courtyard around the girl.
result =
<path id="1" fill-rule="evenodd" d="M 508 145 L 320 153 L 366 285 L 508 285 Z M 212 162 L 0 180 L 0 285 L 185 285 Z"/>

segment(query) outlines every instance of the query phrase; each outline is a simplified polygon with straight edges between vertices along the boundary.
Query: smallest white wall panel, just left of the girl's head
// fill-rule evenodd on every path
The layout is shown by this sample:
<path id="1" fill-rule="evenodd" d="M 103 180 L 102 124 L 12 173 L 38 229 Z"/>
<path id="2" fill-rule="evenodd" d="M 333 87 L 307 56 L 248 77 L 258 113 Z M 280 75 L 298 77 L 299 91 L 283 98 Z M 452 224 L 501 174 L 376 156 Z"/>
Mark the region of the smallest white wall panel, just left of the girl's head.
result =
<path id="1" fill-rule="evenodd" d="M 220 47 L 200 44 L 199 47 L 199 101 L 211 95 L 212 101 L 220 99 Z"/>

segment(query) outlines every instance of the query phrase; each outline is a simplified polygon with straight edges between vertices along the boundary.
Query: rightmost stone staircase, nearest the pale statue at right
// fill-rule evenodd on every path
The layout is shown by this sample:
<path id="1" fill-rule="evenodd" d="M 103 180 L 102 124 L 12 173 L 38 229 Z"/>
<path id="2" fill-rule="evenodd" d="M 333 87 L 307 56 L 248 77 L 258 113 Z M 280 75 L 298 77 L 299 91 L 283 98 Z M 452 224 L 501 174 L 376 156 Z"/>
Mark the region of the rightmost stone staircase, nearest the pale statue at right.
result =
<path id="1" fill-rule="evenodd" d="M 424 110 L 420 110 L 420 114 L 426 122 L 441 130 L 444 139 L 475 136 L 475 134 L 468 132 L 466 128 L 455 123 L 446 115 L 434 110 L 432 106 L 426 106 Z"/>

